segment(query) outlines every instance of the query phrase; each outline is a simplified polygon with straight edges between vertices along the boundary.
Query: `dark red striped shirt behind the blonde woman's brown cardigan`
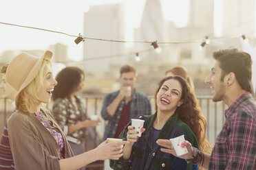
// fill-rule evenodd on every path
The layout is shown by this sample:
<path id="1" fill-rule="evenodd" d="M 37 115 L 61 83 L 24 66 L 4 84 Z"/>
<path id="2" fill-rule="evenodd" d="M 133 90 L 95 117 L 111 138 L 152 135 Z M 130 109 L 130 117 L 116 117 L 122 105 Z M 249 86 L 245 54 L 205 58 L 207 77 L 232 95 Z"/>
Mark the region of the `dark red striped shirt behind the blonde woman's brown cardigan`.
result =
<path id="1" fill-rule="evenodd" d="M 7 124 L 3 128 L 3 134 L 0 142 L 0 169 L 14 169 L 14 160 L 12 158 L 12 151 L 10 149 Z"/>

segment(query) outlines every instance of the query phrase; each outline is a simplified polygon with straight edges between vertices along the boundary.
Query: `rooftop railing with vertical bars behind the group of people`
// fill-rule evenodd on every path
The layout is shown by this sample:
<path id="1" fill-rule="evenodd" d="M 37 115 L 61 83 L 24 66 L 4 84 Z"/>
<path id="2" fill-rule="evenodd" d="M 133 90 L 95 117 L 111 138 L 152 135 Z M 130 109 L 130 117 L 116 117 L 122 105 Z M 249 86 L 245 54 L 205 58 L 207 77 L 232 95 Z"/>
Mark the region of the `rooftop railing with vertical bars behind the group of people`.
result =
<path id="1" fill-rule="evenodd" d="M 209 138 L 210 143 L 213 145 L 215 142 L 215 138 L 217 138 L 217 134 L 220 132 L 224 124 L 224 110 L 227 108 L 227 106 L 225 106 L 222 101 L 217 103 L 213 102 L 211 100 L 211 96 L 198 95 L 197 97 L 204 117 L 206 118 L 207 121 L 207 136 Z M 107 123 L 100 116 L 100 111 L 103 105 L 103 96 L 82 96 L 82 98 L 85 102 L 87 116 L 89 117 L 89 115 L 91 114 L 96 114 L 100 117 L 100 124 L 96 128 L 92 128 L 91 131 L 94 132 L 94 134 L 96 135 L 93 135 L 92 138 L 92 140 L 94 141 L 94 146 L 90 147 L 96 147 L 96 141 L 97 139 L 102 138 L 105 130 L 105 124 Z M 149 99 L 151 101 L 153 111 L 153 97 L 149 97 Z M 13 112 L 14 107 L 12 106 L 12 102 L 10 100 L 3 98 L 1 98 L 0 100 L 0 132 L 3 132 L 3 126 L 6 124 L 8 117 L 10 117 L 10 114 Z M 46 107 L 52 110 L 52 103 L 47 104 Z M 85 147 L 89 146 L 85 145 Z"/>

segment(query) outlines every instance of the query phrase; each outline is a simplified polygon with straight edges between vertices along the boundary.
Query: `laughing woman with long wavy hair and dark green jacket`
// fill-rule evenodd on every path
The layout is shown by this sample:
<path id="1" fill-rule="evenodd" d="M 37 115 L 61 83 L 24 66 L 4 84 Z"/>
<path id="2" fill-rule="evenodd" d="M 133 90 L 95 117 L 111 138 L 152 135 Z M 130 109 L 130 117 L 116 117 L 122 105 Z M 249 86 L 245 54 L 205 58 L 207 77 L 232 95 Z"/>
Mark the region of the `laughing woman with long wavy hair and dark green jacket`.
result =
<path id="1" fill-rule="evenodd" d="M 156 143 L 160 138 L 175 138 L 183 134 L 194 147 L 200 147 L 198 141 L 206 141 L 206 122 L 186 81 L 179 76 L 162 79 L 156 90 L 155 107 L 155 114 L 140 117 L 145 120 L 145 132 L 140 138 L 134 135 L 137 132 L 131 125 L 120 134 L 119 137 L 127 139 L 129 144 L 125 145 L 120 160 L 111 161 L 111 167 L 134 170 L 198 169 L 198 165 L 187 164 L 184 159 L 162 152 Z"/>

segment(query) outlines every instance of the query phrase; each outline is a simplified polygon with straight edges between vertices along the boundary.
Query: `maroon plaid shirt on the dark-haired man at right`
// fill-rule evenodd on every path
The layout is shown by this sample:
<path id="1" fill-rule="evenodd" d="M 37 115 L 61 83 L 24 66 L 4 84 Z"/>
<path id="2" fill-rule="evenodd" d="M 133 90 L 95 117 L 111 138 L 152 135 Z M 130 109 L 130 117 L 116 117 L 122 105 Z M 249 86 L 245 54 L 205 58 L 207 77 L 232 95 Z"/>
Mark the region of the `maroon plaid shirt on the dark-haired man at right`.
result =
<path id="1" fill-rule="evenodd" d="M 256 169 L 256 102 L 244 93 L 225 111 L 209 169 Z"/>

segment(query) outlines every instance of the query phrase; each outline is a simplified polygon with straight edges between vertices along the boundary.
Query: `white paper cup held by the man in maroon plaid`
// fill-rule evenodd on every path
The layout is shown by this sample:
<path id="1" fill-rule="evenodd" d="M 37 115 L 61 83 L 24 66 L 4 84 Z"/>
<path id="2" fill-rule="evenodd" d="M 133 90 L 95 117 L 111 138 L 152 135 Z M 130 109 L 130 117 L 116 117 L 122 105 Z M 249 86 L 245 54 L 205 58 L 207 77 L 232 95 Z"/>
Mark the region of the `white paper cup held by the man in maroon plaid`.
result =
<path id="1" fill-rule="evenodd" d="M 184 134 L 182 136 L 178 136 L 176 138 L 170 138 L 171 144 L 177 154 L 177 156 L 182 156 L 188 153 L 186 146 L 184 145 Z"/>

